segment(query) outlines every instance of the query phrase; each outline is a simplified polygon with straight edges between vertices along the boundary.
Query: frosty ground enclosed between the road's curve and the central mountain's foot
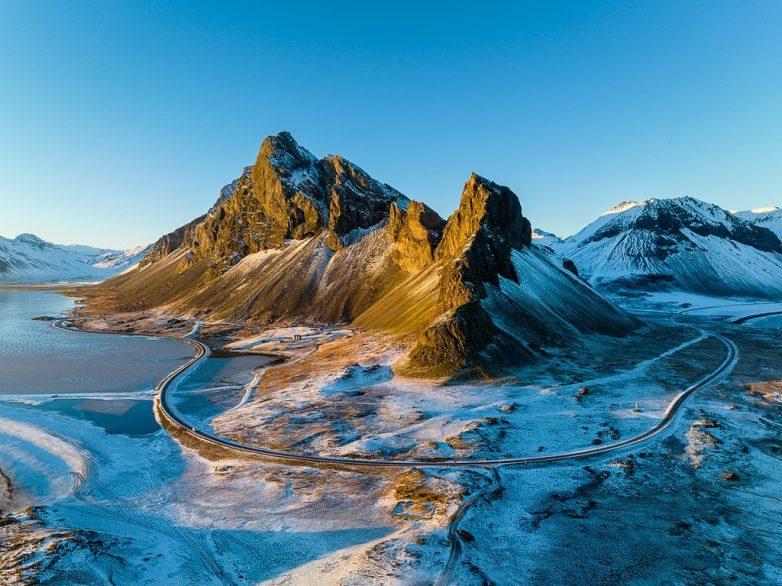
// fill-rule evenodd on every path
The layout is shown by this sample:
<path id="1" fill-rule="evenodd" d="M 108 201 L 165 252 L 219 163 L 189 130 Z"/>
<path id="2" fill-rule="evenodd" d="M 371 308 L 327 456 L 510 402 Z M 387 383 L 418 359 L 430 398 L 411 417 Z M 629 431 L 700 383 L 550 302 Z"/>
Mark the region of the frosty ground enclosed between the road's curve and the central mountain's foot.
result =
<path id="1" fill-rule="evenodd" d="M 532 456 L 600 445 L 652 427 L 675 395 L 723 358 L 721 343 L 697 328 L 662 331 L 663 340 L 656 330 L 635 340 L 594 337 L 599 346 L 589 356 L 615 354 L 597 367 L 584 363 L 587 356 L 578 362 L 563 355 L 500 382 L 463 384 L 396 378 L 397 354 L 385 344 L 339 338 L 270 368 L 252 398 L 213 427 L 249 443 L 400 459 Z"/>

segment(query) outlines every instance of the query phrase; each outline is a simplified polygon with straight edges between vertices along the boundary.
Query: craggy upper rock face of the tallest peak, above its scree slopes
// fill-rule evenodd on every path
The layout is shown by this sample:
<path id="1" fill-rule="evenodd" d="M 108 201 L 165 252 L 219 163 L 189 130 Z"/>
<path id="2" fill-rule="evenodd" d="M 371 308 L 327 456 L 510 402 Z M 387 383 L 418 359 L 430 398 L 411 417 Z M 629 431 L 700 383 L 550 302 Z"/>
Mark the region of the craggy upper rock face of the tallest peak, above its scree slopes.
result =
<path id="1" fill-rule="evenodd" d="M 161 238 L 144 264 L 187 247 L 186 263 L 208 259 L 214 278 L 249 254 L 323 232 L 336 251 L 353 231 L 387 221 L 394 202 L 407 198 L 342 157 L 318 159 L 281 132 L 263 141 L 255 164 L 205 216 Z"/>

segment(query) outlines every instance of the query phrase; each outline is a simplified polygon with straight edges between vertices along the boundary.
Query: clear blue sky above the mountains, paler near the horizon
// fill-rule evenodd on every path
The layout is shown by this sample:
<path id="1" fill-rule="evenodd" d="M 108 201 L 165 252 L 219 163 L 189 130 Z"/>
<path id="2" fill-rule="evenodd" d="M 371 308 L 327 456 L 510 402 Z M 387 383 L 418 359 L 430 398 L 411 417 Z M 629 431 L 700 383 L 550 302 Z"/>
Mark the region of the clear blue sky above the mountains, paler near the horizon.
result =
<path id="1" fill-rule="evenodd" d="M 441 214 L 473 170 L 567 235 L 782 205 L 782 2 L 0 0 L 0 234 L 129 247 L 289 130 Z"/>

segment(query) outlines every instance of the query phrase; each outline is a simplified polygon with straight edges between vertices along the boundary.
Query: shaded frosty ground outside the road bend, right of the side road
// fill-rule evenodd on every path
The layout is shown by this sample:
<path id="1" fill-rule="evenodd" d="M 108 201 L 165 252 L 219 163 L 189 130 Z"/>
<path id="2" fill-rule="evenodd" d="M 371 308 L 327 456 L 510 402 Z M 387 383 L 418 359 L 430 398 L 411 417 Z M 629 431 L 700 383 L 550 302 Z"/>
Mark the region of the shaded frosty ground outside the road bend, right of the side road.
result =
<path id="1" fill-rule="evenodd" d="M 475 541 L 459 582 L 780 583 L 779 330 L 720 329 L 738 365 L 670 433 L 613 458 L 503 469 L 502 495 L 462 524 Z"/>

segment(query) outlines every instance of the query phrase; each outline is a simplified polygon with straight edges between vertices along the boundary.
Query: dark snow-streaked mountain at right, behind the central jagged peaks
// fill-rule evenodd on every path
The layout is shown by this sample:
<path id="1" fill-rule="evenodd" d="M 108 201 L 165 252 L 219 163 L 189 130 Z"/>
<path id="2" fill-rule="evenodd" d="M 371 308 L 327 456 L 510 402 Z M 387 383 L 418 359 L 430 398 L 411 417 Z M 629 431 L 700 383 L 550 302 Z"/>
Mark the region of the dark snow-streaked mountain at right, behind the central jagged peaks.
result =
<path id="1" fill-rule="evenodd" d="M 623 202 L 555 245 L 608 290 L 782 298 L 782 242 L 691 197 Z"/>

